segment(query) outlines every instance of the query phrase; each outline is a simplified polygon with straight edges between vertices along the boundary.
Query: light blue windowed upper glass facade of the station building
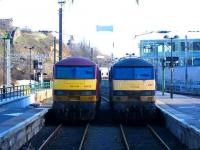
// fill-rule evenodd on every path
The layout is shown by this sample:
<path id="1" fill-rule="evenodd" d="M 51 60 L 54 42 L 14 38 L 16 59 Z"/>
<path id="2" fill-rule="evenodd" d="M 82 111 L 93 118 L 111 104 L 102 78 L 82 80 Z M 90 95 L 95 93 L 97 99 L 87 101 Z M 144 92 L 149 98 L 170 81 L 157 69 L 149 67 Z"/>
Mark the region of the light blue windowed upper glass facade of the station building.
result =
<path id="1" fill-rule="evenodd" d="M 186 46 L 187 45 L 187 46 Z M 171 56 L 179 57 L 178 66 L 200 66 L 200 39 L 141 40 L 140 57 L 161 66 L 161 59 Z"/>

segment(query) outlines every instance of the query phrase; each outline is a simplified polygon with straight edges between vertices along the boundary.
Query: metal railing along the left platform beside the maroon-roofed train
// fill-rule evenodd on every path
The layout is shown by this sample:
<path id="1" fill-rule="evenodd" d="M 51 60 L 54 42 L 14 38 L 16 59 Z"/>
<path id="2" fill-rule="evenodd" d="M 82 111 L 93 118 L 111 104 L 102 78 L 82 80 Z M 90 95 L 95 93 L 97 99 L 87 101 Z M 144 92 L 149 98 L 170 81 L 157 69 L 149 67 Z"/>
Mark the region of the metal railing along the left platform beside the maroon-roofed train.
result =
<path id="1" fill-rule="evenodd" d="M 20 85 L 20 86 L 0 88 L 0 102 L 3 102 L 11 98 L 19 98 L 22 96 L 28 96 L 40 90 L 50 89 L 51 87 L 52 87 L 51 82 L 43 82 L 43 83 L 36 83 L 36 84 L 31 84 L 31 85 Z"/>

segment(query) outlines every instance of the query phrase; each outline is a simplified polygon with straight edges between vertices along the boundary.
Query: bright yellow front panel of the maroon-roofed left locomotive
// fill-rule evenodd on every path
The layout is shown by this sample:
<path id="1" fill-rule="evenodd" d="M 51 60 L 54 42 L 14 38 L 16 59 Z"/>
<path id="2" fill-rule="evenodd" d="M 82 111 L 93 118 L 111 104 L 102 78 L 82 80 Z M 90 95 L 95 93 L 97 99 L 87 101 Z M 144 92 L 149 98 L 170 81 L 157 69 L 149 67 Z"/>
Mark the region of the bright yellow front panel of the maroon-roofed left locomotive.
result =
<path id="1" fill-rule="evenodd" d="M 96 79 L 88 80 L 63 80 L 55 79 L 54 90 L 96 90 Z"/>

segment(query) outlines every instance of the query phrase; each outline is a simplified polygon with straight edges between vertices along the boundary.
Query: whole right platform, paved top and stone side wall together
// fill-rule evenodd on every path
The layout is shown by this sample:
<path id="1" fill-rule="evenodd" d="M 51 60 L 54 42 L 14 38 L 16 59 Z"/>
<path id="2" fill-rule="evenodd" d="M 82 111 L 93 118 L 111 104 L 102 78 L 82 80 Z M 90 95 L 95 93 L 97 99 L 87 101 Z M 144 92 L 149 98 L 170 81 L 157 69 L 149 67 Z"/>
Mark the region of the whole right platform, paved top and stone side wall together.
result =
<path id="1" fill-rule="evenodd" d="M 200 98 L 156 92 L 156 106 L 166 127 L 190 149 L 200 148 Z"/>

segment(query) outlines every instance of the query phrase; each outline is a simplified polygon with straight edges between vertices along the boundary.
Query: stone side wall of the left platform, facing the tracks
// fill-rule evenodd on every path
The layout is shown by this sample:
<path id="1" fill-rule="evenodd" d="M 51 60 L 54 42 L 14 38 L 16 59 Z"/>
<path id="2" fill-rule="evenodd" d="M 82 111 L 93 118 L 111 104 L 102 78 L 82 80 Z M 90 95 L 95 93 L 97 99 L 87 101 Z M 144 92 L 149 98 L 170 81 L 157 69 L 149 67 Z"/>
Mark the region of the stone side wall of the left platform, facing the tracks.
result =
<path id="1" fill-rule="evenodd" d="M 44 125 L 44 114 L 47 110 L 35 114 L 26 121 L 0 134 L 1 150 L 18 150 L 37 134 Z"/>

